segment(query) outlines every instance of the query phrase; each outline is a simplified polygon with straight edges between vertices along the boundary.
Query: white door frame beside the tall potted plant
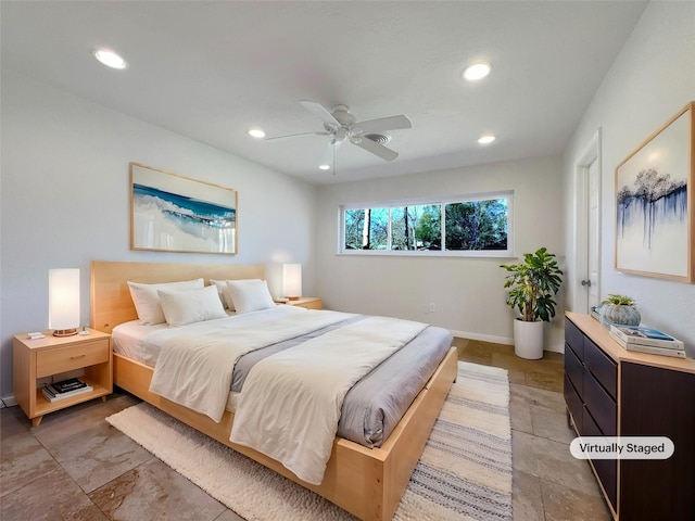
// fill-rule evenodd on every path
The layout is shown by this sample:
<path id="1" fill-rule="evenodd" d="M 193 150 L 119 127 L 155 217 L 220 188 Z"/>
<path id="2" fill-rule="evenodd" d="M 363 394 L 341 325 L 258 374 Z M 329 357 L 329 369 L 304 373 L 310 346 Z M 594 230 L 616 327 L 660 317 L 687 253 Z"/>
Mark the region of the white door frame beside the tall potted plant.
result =
<path id="1" fill-rule="evenodd" d="M 582 287 L 582 280 L 589 277 L 589 167 L 597 162 L 598 177 L 602 178 L 601 127 L 591 137 L 584 152 L 574 163 L 574 226 L 572 244 L 574 245 L 574 274 L 568 282 L 572 285 L 572 310 L 590 313 L 589 292 Z M 599 198 L 601 198 L 601 187 Z M 598 216 L 601 221 L 601 215 Z M 601 265 L 601 226 L 597 227 L 598 265 Z M 596 291 L 601 294 L 601 270 L 596 274 Z"/>

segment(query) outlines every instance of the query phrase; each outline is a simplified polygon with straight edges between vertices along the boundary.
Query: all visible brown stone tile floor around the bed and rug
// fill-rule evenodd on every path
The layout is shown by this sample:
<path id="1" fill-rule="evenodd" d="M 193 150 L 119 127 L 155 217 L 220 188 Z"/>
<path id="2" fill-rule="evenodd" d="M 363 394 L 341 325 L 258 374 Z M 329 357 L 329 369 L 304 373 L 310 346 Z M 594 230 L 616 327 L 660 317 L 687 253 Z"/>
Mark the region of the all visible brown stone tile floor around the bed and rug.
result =
<path id="1" fill-rule="evenodd" d="M 509 371 L 514 521 L 609 520 L 589 465 L 569 454 L 563 356 L 522 360 L 506 345 L 456 345 L 462 360 Z M 18 407 L 0 409 L 0 519 L 241 520 L 104 421 L 135 403 L 114 393 L 34 429 Z"/>

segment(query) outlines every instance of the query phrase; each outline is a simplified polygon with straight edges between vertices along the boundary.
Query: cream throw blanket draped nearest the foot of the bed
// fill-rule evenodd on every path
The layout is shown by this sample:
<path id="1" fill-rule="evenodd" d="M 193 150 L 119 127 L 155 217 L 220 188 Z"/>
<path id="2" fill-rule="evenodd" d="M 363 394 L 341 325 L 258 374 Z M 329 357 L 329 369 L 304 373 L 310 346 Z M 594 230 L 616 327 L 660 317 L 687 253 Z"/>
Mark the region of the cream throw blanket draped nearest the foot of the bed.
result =
<path id="1" fill-rule="evenodd" d="M 320 484 L 348 391 L 426 327 L 370 317 L 265 358 L 247 377 L 230 440 Z"/>

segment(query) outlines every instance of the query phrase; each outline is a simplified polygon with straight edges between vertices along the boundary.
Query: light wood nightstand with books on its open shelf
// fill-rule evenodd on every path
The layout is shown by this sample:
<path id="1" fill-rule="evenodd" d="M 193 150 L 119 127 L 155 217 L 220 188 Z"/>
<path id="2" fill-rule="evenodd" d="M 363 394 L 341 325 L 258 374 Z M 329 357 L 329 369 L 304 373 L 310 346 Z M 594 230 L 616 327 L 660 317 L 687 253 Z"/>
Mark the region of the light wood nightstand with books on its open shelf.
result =
<path id="1" fill-rule="evenodd" d="M 22 410 L 31 420 L 31 425 L 41 423 L 43 415 L 87 402 L 99 396 L 105 402 L 113 392 L 111 335 L 88 330 L 90 334 L 53 336 L 45 332 L 43 339 L 31 340 L 27 334 L 14 336 L 12 374 L 14 397 Z M 39 379 L 77 369 L 84 370 L 84 380 L 93 387 L 88 393 L 49 402 L 41 392 Z"/>

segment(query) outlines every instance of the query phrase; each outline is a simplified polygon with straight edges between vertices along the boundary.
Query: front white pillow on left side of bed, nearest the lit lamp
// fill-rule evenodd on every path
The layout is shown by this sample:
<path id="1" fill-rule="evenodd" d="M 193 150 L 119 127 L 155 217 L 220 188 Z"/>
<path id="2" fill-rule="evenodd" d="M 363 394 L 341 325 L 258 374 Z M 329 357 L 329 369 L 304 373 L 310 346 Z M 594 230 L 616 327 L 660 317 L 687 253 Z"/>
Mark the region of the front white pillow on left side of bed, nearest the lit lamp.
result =
<path id="1" fill-rule="evenodd" d="M 195 290 L 157 290 L 156 293 L 166 322 L 173 328 L 227 316 L 214 285 Z"/>

